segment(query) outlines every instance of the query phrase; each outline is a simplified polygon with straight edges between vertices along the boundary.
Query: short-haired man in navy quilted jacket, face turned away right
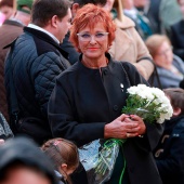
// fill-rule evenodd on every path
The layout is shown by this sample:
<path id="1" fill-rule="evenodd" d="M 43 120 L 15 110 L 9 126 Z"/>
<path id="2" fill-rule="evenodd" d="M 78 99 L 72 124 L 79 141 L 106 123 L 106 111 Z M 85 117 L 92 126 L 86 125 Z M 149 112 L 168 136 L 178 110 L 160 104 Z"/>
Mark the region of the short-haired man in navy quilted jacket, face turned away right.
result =
<path id="1" fill-rule="evenodd" d="M 35 0 L 31 24 L 12 44 L 5 61 L 11 128 L 15 135 L 29 135 L 38 144 L 52 137 L 48 101 L 57 75 L 70 66 L 60 48 L 70 27 L 69 8 L 68 0 Z"/>

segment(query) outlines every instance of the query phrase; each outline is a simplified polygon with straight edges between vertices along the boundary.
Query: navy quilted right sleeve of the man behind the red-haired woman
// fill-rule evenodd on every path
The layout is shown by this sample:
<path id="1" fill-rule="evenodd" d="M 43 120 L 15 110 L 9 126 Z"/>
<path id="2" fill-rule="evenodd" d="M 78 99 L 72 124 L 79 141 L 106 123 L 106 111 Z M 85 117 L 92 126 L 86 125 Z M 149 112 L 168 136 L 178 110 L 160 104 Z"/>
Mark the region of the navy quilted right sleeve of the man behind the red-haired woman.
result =
<path id="1" fill-rule="evenodd" d="M 48 52 L 37 57 L 30 68 L 35 96 L 45 118 L 48 118 L 48 102 L 54 89 L 56 77 L 67 67 L 69 64 L 64 57 L 54 52 Z"/>

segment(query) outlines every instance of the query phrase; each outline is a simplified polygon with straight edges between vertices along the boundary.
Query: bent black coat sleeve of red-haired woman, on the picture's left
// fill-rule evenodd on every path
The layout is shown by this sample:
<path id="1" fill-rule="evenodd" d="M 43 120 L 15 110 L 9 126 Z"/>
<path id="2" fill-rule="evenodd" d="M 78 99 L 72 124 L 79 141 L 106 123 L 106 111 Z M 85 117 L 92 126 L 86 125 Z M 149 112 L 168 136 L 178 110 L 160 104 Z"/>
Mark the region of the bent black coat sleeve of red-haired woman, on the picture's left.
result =
<path id="1" fill-rule="evenodd" d="M 63 77 L 63 76 L 62 76 Z M 104 137 L 104 127 L 107 122 L 78 122 L 74 92 L 64 77 L 56 80 L 55 88 L 49 101 L 48 116 L 54 137 L 74 141 L 78 146 Z M 64 82 L 65 81 L 65 82 Z M 77 90 L 77 89 L 76 89 Z M 61 97 L 62 96 L 62 97 Z"/>

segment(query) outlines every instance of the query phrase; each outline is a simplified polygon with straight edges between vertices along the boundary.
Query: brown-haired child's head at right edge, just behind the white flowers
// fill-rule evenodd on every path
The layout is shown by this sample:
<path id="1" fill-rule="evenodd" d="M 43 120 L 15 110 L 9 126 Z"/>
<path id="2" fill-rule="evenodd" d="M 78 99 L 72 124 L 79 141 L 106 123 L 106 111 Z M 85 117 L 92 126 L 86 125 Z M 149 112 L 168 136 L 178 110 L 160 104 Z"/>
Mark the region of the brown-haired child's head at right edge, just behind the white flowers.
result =
<path id="1" fill-rule="evenodd" d="M 165 89 L 163 92 L 170 98 L 173 116 L 184 115 L 184 90 L 180 88 Z"/>

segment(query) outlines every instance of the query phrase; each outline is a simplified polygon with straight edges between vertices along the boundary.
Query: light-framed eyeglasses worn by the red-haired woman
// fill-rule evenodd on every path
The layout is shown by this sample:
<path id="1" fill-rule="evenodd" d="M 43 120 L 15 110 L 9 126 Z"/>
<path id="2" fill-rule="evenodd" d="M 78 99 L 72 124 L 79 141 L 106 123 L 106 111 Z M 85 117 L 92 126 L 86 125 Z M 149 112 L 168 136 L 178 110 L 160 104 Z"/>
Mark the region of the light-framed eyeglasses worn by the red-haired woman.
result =
<path id="1" fill-rule="evenodd" d="M 96 41 L 103 41 L 109 32 L 96 32 L 95 35 L 79 32 L 77 36 L 81 41 L 91 41 L 92 37 Z"/>

